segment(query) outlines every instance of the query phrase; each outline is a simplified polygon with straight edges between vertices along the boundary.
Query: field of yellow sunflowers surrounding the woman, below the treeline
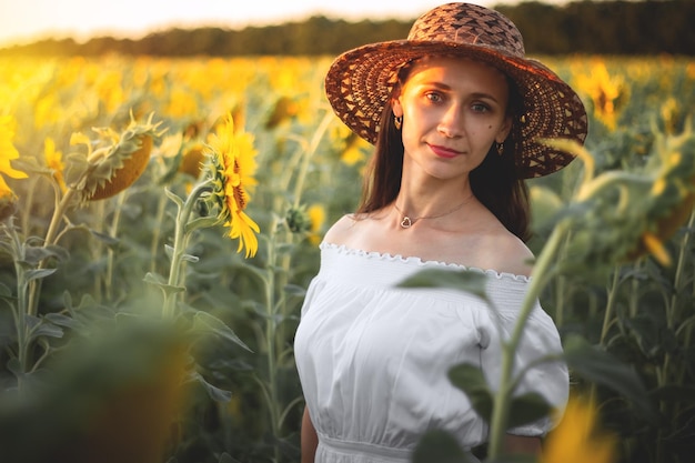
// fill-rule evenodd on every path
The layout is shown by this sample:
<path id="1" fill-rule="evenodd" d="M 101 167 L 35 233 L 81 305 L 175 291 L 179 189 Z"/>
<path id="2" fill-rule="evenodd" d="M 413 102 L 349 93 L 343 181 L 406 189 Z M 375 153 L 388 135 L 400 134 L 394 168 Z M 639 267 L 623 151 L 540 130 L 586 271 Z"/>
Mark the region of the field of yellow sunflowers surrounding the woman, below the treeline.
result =
<path id="1" fill-rule="evenodd" d="M 538 462 L 689 462 L 695 63 L 544 61 L 591 120 L 530 181 L 572 378 Z M 0 59 L 0 461 L 299 461 L 294 331 L 371 149 L 328 105 L 330 62 Z M 414 461 L 466 461 L 446 445 Z"/>

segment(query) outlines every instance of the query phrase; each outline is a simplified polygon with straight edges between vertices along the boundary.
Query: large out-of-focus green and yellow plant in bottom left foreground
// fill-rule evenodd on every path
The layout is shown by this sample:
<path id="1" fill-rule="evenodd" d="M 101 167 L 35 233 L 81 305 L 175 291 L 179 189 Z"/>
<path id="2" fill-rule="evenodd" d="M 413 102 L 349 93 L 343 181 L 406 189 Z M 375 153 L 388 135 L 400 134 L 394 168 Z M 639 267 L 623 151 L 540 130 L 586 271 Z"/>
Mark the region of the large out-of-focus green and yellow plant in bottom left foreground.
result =
<path id="1" fill-rule="evenodd" d="M 2 461 L 161 461 L 183 407 L 188 359 L 180 329 L 143 316 L 73 339 L 44 381 L 0 393 Z"/>

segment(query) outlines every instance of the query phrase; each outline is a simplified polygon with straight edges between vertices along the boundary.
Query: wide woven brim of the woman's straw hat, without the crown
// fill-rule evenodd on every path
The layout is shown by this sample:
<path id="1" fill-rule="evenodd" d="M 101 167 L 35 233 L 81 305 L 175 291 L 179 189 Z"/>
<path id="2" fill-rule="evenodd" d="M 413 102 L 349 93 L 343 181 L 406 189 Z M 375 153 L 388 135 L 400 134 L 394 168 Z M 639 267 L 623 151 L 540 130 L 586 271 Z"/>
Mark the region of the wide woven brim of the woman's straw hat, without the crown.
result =
<path id="1" fill-rule="evenodd" d="M 494 47 L 444 42 L 394 40 L 346 51 L 331 64 L 325 92 L 338 117 L 357 135 L 374 144 L 381 114 L 399 70 L 426 56 L 455 56 L 486 62 L 515 83 L 524 105 L 518 114 L 520 177 L 533 178 L 555 172 L 574 158 L 540 142 L 563 138 L 584 143 L 586 110 L 580 97 L 555 72 L 541 62 L 501 52 Z"/>

